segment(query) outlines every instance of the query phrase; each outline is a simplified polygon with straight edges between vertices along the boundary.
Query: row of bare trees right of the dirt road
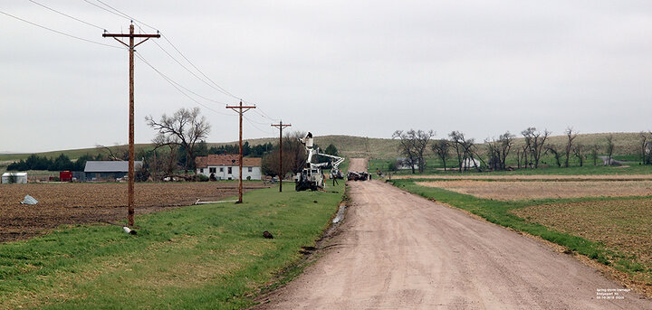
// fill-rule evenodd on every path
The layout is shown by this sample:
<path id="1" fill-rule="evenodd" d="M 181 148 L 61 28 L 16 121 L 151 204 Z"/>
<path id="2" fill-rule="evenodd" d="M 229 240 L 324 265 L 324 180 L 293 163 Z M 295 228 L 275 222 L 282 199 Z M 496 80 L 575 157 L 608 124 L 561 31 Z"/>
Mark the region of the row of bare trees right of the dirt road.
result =
<path id="1" fill-rule="evenodd" d="M 515 135 L 509 131 L 504 134 L 484 140 L 483 149 L 460 131 L 452 131 L 447 138 L 434 139 L 433 130 L 397 130 L 392 135 L 397 139 L 398 151 L 405 156 L 400 162 L 390 164 L 390 170 L 396 170 L 398 165 L 407 166 L 415 174 L 423 173 L 426 169 L 426 152 L 429 149 L 436 155 L 444 170 L 452 161 L 459 172 L 466 170 L 510 170 L 521 168 L 539 168 L 542 157 L 549 155 L 558 167 L 569 167 L 571 158 L 576 158 L 580 166 L 587 160 L 598 164 L 600 154 L 604 154 L 604 164 L 618 164 L 613 159 L 615 143 L 614 136 L 605 137 L 602 144 L 583 145 L 576 141 L 578 132 L 572 127 L 564 130 L 564 143 L 562 146 L 551 144 L 548 130 L 538 130 L 528 127 L 521 132 L 523 144 L 514 144 Z M 514 154 L 515 153 L 515 154 Z M 639 134 L 639 150 L 641 164 L 652 164 L 652 132 Z M 516 167 L 507 164 L 507 157 L 515 157 Z"/>

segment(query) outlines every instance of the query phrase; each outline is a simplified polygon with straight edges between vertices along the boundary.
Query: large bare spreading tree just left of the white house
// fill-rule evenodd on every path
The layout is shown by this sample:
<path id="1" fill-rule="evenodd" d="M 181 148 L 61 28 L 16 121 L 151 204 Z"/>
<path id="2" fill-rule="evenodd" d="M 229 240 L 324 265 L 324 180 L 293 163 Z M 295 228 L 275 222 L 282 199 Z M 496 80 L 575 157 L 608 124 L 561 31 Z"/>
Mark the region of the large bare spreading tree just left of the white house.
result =
<path id="1" fill-rule="evenodd" d="M 205 139 L 210 132 L 210 125 L 206 117 L 200 116 L 199 108 L 180 108 L 174 115 L 168 117 L 163 114 L 159 121 L 153 117 L 145 117 L 149 127 L 158 131 L 154 143 L 176 144 L 186 150 L 186 164 L 184 171 L 187 174 L 190 164 L 195 161 L 195 145 Z M 197 174 L 197 171 L 195 171 Z"/>

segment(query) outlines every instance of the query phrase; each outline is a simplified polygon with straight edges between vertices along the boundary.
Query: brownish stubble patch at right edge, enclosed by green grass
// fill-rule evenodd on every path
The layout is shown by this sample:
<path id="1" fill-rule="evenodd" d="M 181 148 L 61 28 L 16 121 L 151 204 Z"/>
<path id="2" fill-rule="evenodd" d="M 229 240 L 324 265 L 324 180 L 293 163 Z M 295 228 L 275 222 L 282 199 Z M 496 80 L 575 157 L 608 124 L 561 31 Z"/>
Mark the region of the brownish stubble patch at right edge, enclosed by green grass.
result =
<path id="1" fill-rule="evenodd" d="M 652 201 L 617 200 L 532 206 L 512 212 L 527 221 L 599 241 L 611 249 L 635 255 L 649 269 L 652 284 Z M 645 274 L 641 274 L 645 277 Z M 652 287 L 650 287 L 652 291 Z"/>

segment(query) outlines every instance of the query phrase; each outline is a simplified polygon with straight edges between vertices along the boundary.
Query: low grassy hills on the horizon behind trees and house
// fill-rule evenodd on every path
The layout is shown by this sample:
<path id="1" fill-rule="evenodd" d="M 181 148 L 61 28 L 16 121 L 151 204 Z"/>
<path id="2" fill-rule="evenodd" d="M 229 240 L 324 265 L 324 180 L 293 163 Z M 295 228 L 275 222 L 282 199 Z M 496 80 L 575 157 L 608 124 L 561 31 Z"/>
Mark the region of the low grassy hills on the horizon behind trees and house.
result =
<path id="1" fill-rule="evenodd" d="M 580 143 L 585 146 L 605 146 L 607 144 L 606 137 L 609 135 L 614 136 L 614 143 L 616 145 L 616 155 L 634 155 L 638 154 L 640 148 L 639 134 L 638 133 L 602 133 L 602 134 L 581 134 L 575 140 L 575 143 Z M 249 145 L 256 146 L 271 142 L 272 144 L 278 143 L 278 138 L 257 138 L 247 139 Z M 398 156 L 398 141 L 390 138 L 370 138 L 363 136 L 315 136 L 314 142 L 316 145 L 326 148 L 330 144 L 336 146 L 340 155 L 345 157 L 369 157 L 388 159 Z M 484 141 L 476 141 L 478 145 L 482 145 Z M 550 136 L 548 142 L 563 146 L 566 143 L 566 136 Z M 221 143 L 208 143 L 208 146 L 221 146 L 221 145 L 235 145 L 237 141 L 221 142 Z M 516 137 L 514 140 L 515 146 L 523 145 L 523 137 Z M 110 146 L 110 147 L 126 147 L 126 146 Z M 141 149 L 151 149 L 151 144 L 138 144 L 136 145 L 136 152 Z M 515 148 L 514 148 L 515 149 Z M 429 151 L 429 150 L 428 150 Z M 37 155 L 45 155 L 47 157 L 57 157 L 61 154 L 68 155 L 71 159 L 79 158 L 82 155 L 97 155 L 101 152 L 96 147 L 62 150 L 53 152 L 36 153 Z M 0 165 L 6 165 L 16 160 L 27 158 L 30 154 L 0 154 Z"/>

